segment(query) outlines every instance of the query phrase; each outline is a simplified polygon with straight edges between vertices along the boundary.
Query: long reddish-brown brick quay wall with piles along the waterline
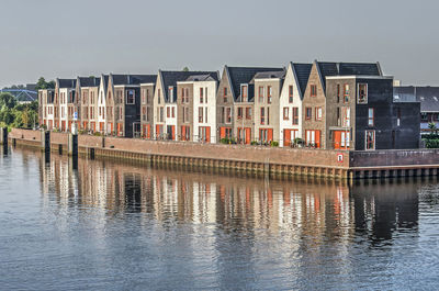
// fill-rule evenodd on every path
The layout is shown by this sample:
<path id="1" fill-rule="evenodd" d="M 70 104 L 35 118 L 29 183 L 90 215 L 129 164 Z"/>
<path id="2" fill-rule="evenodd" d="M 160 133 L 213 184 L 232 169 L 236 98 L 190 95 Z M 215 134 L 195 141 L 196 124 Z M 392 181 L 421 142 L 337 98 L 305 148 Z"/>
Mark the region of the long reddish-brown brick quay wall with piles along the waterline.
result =
<path id="1" fill-rule="evenodd" d="M 68 133 L 13 128 L 13 145 L 69 154 Z M 70 150 L 69 150 L 70 148 Z M 438 149 L 349 152 L 308 148 L 201 144 L 79 135 L 78 155 L 138 160 L 145 164 L 184 165 L 268 175 L 313 176 L 335 179 L 437 176 Z"/>

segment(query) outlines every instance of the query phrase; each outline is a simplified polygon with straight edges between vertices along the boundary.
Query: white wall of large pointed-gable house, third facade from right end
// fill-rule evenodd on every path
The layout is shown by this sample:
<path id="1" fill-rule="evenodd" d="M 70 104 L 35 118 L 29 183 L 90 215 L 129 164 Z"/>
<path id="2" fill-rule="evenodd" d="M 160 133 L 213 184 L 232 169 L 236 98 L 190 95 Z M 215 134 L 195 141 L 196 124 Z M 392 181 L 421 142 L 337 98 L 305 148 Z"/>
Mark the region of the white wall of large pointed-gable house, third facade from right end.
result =
<path id="1" fill-rule="evenodd" d="M 293 86 L 293 103 L 290 103 L 290 89 L 289 87 Z M 289 108 L 289 119 L 285 121 L 283 120 L 283 108 Z M 299 109 L 299 124 L 293 125 L 293 108 Z M 279 138 L 280 143 L 279 146 L 283 146 L 283 131 L 284 130 L 295 130 L 297 131 L 297 136 L 302 137 L 302 99 L 301 93 L 299 92 L 299 85 L 294 78 L 294 72 L 291 67 L 289 66 L 285 75 L 285 79 L 282 86 L 281 96 L 279 99 Z M 292 141 L 293 142 L 293 141 Z"/>

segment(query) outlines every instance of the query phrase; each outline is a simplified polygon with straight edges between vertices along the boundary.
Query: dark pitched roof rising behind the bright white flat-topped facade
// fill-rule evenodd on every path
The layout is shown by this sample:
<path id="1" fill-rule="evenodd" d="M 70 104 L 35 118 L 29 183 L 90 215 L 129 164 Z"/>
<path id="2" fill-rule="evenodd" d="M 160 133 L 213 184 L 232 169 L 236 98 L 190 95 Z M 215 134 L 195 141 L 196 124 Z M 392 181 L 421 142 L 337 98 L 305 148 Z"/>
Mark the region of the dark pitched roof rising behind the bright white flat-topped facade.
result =
<path id="1" fill-rule="evenodd" d="M 166 102 L 176 102 L 177 90 L 173 90 L 173 96 L 168 96 L 168 88 L 170 86 L 176 87 L 178 81 L 185 81 L 192 76 L 205 76 L 209 75 L 212 78 L 217 78 L 217 71 L 179 71 L 179 70 L 159 70 L 158 72 L 161 78 L 161 86 L 164 89 L 164 97 Z"/>

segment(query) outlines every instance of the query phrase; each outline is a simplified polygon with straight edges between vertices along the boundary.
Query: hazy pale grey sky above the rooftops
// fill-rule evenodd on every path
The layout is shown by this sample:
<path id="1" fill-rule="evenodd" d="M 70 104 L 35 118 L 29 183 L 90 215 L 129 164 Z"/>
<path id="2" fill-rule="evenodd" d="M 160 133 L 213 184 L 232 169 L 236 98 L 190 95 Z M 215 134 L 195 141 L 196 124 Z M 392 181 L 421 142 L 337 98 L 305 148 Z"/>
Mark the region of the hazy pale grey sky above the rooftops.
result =
<path id="1" fill-rule="evenodd" d="M 40 76 L 381 63 L 439 85 L 437 0 L 0 0 L 0 87 Z"/>

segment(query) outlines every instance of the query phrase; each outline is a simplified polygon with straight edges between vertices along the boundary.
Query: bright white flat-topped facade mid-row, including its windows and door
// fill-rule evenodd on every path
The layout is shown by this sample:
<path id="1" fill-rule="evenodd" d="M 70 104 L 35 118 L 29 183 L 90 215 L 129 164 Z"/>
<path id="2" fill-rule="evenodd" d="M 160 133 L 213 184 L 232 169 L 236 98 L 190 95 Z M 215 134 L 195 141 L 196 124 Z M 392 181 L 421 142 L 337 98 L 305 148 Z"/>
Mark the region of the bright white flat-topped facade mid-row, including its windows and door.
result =
<path id="1" fill-rule="evenodd" d="M 216 90 L 215 80 L 193 82 L 194 142 L 216 143 Z"/>

